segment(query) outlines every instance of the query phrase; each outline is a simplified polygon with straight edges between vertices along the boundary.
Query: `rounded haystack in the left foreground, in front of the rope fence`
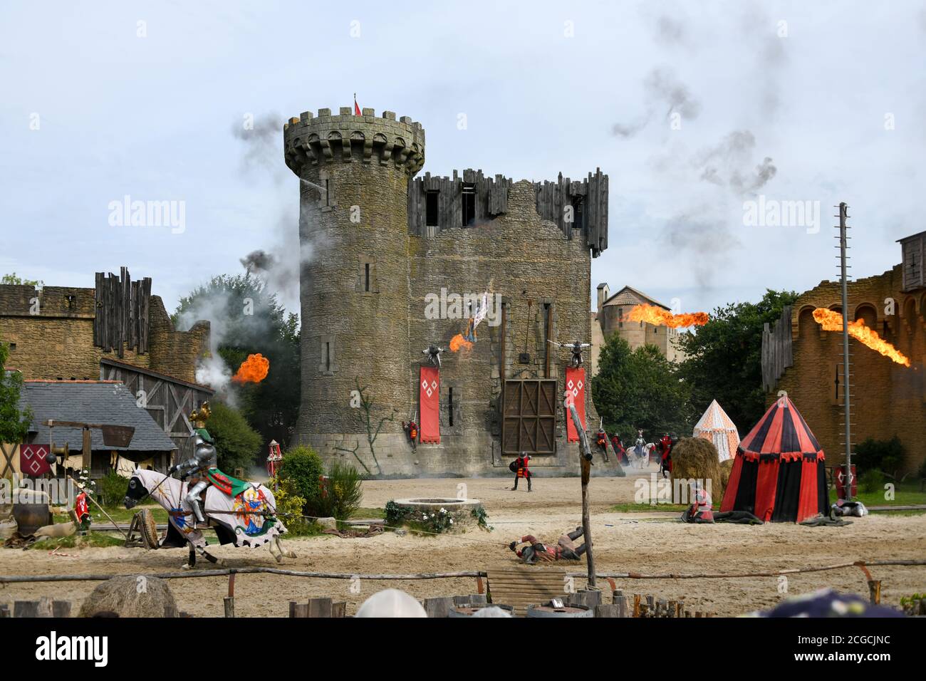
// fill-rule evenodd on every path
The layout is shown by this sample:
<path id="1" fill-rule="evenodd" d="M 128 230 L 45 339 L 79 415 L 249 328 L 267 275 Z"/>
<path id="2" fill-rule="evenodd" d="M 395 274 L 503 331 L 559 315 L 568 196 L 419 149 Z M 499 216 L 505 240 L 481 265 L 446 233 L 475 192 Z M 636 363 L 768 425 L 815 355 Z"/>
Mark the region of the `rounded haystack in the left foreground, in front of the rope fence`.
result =
<path id="1" fill-rule="evenodd" d="M 177 617 L 177 603 L 168 583 L 158 577 L 107 579 L 81 605 L 80 617 L 115 613 L 119 617 Z M 108 615 L 112 616 L 112 615 Z"/>

